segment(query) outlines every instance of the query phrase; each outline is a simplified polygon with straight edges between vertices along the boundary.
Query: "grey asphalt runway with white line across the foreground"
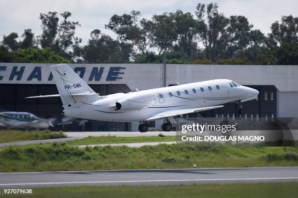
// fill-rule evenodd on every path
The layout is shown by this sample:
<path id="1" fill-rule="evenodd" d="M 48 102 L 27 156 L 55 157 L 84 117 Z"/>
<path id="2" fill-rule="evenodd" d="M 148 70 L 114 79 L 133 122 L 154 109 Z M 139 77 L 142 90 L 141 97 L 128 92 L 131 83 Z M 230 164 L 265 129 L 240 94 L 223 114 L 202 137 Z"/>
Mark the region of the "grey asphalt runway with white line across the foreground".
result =
<path id="1" fill-rule="evenodd" d="M 298 166 L 0 173 L 0 188 L 298 182 Z"/>

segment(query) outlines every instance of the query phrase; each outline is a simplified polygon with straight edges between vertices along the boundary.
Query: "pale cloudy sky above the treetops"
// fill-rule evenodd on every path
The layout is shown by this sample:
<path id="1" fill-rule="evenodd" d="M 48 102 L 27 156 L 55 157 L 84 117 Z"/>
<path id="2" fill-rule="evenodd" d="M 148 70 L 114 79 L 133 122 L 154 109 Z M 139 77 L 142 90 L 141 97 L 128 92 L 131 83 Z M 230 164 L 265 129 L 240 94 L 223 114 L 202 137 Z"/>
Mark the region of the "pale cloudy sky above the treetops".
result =
<path id="1" fill-rule="evenodd" d="M 24 29 L 32 29 L 35 36 L 41 34 L 39 13 L 49 11 L 72 13 L 71 21 L 78 21 L 75 36 L 82 38 L 86 44 L 90 33 L 99 29 L 112 38 L 116 35 L 105 29 L 112 15 L 129 14 L 131 10 L 140 11 L 142 18 L 151 18 L 154 14 L 183 12 L 195 14 L 198 3 L 217 2 L 219 11 L 226 17 L 242 15 L 260 29 L 262 33 L 270 32 L 270 25 L 281 16 L 292 14 L 298 16 L 298 0 L 0 0 L 0 41 L 3 35 L 16 32 L 19 36 Z"/>

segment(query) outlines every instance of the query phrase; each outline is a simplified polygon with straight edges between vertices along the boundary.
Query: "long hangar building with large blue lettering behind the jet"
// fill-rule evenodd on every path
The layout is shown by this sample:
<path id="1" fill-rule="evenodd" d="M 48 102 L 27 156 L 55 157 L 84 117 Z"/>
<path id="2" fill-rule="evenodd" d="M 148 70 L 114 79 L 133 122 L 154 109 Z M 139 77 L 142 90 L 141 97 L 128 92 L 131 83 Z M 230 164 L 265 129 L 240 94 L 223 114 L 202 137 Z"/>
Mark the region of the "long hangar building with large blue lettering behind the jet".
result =
<path id="1" fill-rule="evenodd" d="M 60 117 L 59 98 L 25 99 L 58 94 L 50 65 L 0 63 L 0 109 L 30 112 L 40 117 Z M 127 93 L 163 85 L 162 64 L 69 64 L 100 95 Z M 247 116 L 298 117 L 298 66 L 167 65 L 167 85 L 230 79 L 259 90 L 259 99 L 242 103 Z M 199 116 L 237 117 L 238 105 L 202 112 Z M 150 123 L 161 129 L 163 121 Z M 137 131 L 139 123 L 91 121 L 86 131 Z M 77 125 L 69 130 L 77 130 Z"/>

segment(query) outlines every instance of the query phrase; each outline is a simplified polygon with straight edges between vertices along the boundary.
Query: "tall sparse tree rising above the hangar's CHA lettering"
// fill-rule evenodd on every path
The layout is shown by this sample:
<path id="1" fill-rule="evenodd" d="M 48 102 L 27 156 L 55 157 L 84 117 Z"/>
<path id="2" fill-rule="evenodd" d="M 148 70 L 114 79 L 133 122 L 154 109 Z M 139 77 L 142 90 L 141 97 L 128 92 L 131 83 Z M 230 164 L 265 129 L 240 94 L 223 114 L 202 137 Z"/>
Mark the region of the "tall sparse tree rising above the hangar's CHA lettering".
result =
<path id="1" fill-rule="evenodd" d="M 61 13 L 63 21 L 59 24 L 57 12 L 40 13 L 42 34 L 38 36 L 38 42 L 42 48 L 51 48 L 56 53 L 70 57 L 69 49 L 73 44 L 81 42 L 81 39 L 75 37 L 75 28 L 80 26 L 78 22 L 69 21 L 72 16 L 70 12 Z"/>

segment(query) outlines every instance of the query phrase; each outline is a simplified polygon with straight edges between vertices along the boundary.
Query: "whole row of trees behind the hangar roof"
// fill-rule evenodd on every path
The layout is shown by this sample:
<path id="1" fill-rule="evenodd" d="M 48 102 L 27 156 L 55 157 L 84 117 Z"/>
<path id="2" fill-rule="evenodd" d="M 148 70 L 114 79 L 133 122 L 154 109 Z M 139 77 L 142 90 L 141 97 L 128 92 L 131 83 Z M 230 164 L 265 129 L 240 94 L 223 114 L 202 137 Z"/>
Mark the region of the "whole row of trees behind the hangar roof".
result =
<path id="1" fill-rule="evenodd" d="M 298 64 L 298 17 L 281 16 L 265 35 L 245 16 L 224 16 L 217 3 L 198 3 L 195 15 L 177 10 L 141 18 L 139 11 L 113 15 L 105 28 L 94 29 L 86 45 L 75 37 L 79 22 L 70 12 L 41 13 L 41 35 L 3 35 L 0 62 L 24 63 L 162 63 L 160 38 L 171 36 L 169 64 Z"/>

